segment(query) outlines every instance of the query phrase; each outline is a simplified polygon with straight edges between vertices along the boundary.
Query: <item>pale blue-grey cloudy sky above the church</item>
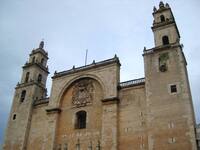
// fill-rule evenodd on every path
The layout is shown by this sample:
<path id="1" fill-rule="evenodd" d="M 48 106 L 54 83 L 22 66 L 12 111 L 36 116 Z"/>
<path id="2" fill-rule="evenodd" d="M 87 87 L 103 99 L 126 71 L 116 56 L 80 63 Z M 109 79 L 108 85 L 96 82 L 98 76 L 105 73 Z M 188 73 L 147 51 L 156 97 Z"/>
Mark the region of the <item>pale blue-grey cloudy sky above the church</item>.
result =
<path id="1" fill-rule="evenodd" d="M 200 122 L 200 1 L 168 0 L 184 44 L 196 120 Z M 29 53 L 44 39 L 48 91 L 54 71 L 117 54 L 121 81 L 144 77 L 143 47 L 154 47 L 152 9 L 158 0 L 0 0 L 0 143 L 14 88 Z"/>

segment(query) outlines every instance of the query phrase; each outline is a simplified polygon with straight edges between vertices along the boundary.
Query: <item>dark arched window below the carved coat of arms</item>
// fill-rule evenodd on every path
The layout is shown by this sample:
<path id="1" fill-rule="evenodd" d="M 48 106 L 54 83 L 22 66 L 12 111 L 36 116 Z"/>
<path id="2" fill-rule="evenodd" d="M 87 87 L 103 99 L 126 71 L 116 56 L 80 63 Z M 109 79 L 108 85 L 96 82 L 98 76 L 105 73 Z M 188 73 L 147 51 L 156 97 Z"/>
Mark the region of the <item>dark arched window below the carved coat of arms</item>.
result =
<path id="1" fill-rule="evenodd" d="M 87 112 L 86 111 L 77 112 L 76 113 L 75 128 L 76 129 L 84 129 L 84 128 L 86 128 L 86 118 L 87 118 Z"/>

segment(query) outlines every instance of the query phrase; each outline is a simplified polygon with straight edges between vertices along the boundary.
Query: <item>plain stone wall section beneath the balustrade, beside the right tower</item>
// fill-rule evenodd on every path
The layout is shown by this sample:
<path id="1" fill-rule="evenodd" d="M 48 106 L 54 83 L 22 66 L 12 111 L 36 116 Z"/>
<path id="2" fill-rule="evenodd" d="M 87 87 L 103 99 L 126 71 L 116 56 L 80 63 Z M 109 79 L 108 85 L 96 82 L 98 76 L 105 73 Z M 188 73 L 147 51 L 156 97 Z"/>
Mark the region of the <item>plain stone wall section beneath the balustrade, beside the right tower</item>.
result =
<path id="1" fill-rule="evenodd" d="M 144 85 L 119 92 L 119 149 L 148 149 Z"/>

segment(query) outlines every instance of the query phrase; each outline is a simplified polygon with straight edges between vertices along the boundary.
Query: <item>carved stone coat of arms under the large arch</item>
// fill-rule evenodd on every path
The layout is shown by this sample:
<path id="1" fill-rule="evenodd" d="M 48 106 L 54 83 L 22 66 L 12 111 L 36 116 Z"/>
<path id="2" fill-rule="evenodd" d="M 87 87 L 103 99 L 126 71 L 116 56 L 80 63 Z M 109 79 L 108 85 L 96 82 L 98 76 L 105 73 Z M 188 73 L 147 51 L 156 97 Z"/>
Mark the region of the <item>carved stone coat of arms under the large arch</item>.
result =
<path id="1" fill-rule="evenodd" d="M 92 103 L 93 91 L 94 86 L 90 79 L 83 79 L 75 83 L 72 91 L 72 104 L 79 107 Z"/>

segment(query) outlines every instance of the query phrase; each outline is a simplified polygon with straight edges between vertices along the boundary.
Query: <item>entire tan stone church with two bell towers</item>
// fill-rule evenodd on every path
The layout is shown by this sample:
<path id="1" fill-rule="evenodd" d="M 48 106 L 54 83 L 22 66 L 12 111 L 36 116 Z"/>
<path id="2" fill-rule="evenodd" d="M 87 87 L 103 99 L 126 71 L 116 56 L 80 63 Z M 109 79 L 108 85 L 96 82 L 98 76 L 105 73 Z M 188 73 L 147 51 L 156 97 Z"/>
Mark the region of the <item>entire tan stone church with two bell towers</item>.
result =
<path id="1" fill-rule="evenodd" d="M 154 7 L 153 18 L 145 77 L 126 82 L 115 56 L 55 72 L 47 97 L 42 41 L 22 67 L 3 149 L 196 150 L 187 62 L 169 4 Z"/>

